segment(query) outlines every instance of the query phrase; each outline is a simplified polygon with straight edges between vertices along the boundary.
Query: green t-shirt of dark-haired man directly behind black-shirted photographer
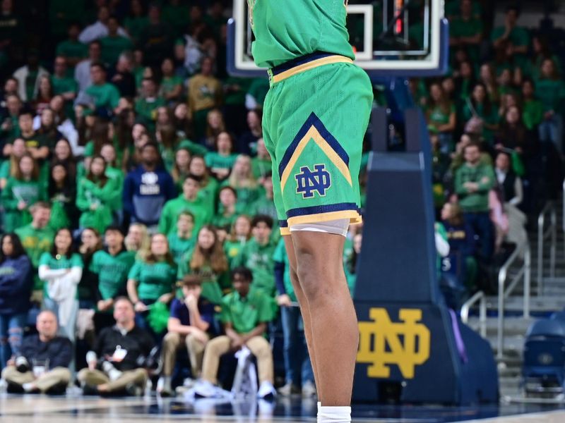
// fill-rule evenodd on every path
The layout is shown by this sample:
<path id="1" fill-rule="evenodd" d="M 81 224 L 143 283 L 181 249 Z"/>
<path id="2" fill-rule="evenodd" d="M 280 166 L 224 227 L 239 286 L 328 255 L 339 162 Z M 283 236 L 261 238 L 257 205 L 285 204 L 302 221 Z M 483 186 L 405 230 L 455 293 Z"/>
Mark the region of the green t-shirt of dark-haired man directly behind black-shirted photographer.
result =
<path id="1" fill-rule="evenodd" d="M 98 275 L 98 290 L 102 300 L 124 295 L 126 282 L 136 253 L 122 250 L 113 256 L 106 250 L 94 253 L 90 271 Z"/>

